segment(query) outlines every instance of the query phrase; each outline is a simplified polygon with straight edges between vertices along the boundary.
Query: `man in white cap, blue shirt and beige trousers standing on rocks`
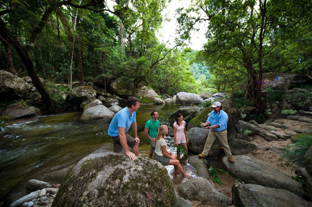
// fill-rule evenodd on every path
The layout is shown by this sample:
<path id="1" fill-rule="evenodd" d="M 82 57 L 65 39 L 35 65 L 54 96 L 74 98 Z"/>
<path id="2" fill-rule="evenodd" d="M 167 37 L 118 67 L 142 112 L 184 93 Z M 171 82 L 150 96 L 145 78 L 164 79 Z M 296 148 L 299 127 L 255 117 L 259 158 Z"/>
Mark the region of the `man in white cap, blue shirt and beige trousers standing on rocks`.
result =
<path id="1" fill-rule="evenodd" d="M 224 149 L 225 156 L 227 156 L 229 161 L 233 163 L 235 161 L 232 157 L 230 147 L 227 143 L 227 120 L 229 116 L 222 110 L 220 102 L 215 102 L 211 106 L 213 108 L 213 111 L 209 114 L 206 123 L 201 122 L 202 128 L 211 130 L 208 134 L 204 150 L 198 156 L 202 158 L 206 157 L 212 146 L 212 143 L 217 138 Z M 210 127 L 208 125 L 210 125 Z"/>

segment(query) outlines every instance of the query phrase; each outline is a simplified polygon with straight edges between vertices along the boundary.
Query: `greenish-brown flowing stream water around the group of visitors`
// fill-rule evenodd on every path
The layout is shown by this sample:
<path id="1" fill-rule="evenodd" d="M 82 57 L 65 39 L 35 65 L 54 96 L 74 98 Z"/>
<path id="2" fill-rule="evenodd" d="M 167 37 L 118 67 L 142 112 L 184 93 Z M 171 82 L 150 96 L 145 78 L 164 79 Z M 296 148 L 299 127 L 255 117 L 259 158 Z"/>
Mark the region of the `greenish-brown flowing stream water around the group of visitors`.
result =
<path id="1" fill-rule="evenodd" d="M 139 156 L 149 157 L 150 145 L 143 130 L 150 112 L 156 110 L 160 124 L 170 126 L 169 115 L 182 105 L 145 105 L 136 114 Z M 5 136 L 0 142 L 0 199 L 7 193 L 13 194 L 31 179 L 47 180 L 57 177 L 56 171 L 70 169 L 81 158 L 95 150 L 112 152 L 113 142 L 107 131 L 111 118 L 80 121 L 82 112 L 60 113 L 28 119 L 28 122 L 14 124 L 14 135 Z M 128 132 L 133 136 L 131 128 Z M 172 129 L 169 130 L 169 134 Z M 176 153 L 174 139 L 166 136 L 167 147 Z M 195 176 L 195 170 L 186 159 L 181 160 L 184 170 Z M 173 166 L 166 166 L 173 184 L 184 182 L 181 175 L 174 175 Z"/>

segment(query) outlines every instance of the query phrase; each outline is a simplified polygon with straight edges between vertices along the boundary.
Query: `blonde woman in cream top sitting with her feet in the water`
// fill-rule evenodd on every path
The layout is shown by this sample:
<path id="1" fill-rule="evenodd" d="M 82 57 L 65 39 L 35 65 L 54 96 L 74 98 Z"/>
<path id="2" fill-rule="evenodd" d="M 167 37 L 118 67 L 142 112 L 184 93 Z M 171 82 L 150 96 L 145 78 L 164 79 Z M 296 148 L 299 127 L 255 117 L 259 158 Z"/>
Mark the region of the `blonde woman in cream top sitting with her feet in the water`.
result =
<path id="1" fill-rule="evenodd" d="M 183 176 L 189 176 L 184 172 L 180 161 L 177 160 L 177 156 L 167 151 L 167 144 L 164 139 L 166 134 L 168 134 L 168 127 L 161 125 L 155 139 L 155 160 L 163 166 L 173 165 L 175 174 L 181 172 Z"/>

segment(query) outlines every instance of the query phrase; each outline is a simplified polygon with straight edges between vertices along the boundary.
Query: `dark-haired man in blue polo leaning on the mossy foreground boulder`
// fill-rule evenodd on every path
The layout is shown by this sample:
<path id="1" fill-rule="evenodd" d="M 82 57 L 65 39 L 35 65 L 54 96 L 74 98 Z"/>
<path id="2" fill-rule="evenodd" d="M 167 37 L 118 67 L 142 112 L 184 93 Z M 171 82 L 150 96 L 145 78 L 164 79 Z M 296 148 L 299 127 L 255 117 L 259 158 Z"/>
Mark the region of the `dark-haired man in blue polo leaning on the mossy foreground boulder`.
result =
<path id="1" fill-rule="evenodd" d="M 122 149 L 126 153 L 126 156 L 130 160 L 135 160 L 135 156 L 139 156 L 139 143 L 140 140 L 137 135 L 137 124 L 135 119 L 135 113 L 140 108 L 140 99 L 133 96 L 128 97 L 127 107 L 117 112 L 110 122 L 108 128 L 108 135 L 113 139 L 114 152 L 120 153 Z M 129 134 L 126 134 L 132 126 L 134 132 L 134 138 Z M 132 152 L 129 151 L 129 147 L 132 148 Z"/>

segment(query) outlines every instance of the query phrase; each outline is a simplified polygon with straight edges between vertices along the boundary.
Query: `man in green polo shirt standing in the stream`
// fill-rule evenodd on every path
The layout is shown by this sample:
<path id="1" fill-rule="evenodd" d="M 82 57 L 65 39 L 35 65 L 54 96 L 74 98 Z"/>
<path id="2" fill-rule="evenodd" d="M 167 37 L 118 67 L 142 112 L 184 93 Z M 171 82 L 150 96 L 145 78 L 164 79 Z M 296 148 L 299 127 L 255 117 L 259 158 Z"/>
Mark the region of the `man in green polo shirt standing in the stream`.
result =
<path id="1" fill-rule="evenodd" d="M 145 124 L 144 134 L 149 139 L 149 143 L 151 144 L 151 150 L 149 151 L 149 158 L 153 158 L 153 153 L 155 151 L 155 137 L 159 132 L 159 121 L 158 113 L 156 111 L 151 112 L 151 119 L 148 120 Z"/>

